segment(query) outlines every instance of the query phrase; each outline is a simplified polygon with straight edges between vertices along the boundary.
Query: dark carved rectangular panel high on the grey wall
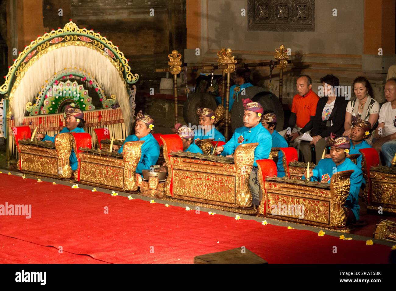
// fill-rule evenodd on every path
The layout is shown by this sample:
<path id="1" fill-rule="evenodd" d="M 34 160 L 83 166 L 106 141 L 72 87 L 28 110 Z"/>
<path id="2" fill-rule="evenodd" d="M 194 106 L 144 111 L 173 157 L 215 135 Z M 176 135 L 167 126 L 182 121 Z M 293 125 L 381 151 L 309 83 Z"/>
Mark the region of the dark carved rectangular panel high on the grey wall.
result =
<path id="1" fill-rule="evenodd" d="M 315 0 L 248 0 L 248 30 L 315 31 Z"/>

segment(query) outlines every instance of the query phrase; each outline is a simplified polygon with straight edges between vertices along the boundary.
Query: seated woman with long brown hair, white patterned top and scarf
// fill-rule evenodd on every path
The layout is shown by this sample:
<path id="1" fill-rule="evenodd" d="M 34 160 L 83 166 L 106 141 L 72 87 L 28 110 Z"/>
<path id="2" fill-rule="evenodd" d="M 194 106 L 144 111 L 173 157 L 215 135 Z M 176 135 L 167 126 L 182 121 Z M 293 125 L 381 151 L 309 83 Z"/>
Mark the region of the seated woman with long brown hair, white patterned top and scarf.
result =
<path id="1" fill-rule="evenodd" d="M 375 129 L 379 118 L 379 108 L 381 107 L 379 103 L 374 100 L 373 88 L 365 77 L 357 77 L 353 81 L 353 91 L 356 95 L 356 99 L 348 102 L 345 112 L 345 131 L 343 135 L 347 137 L 350 137 L 353 116 L 366 120 L 371 124 L 370 129 L 367 131 Z M 374 133 L 366 139 L 366 142 L 371 145 L 373 138 Z"/>

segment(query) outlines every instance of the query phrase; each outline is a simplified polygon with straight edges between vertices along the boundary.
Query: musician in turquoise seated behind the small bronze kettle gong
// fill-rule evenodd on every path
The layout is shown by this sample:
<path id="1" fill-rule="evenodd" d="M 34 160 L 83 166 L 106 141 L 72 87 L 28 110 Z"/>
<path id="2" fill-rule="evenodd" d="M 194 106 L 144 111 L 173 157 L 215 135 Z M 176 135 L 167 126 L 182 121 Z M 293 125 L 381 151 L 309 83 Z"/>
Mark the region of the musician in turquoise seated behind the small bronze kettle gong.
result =
<path id="1" fill-rule="evenodd" d="M 137 113 L 135 134 L 129 135 L 125 142 L 128 141 L 144 141 L 142 145 L 142 154 L 140 157 L 139 164 L 136 167 L 136 173 L 142 175 L 142 170 L 150 169 L 152 165 L 155 165 L 160 156 L 160 145 L 158 141 L 150 133 L 154 127 L 154 119 L 150 115 L 143 115 L 142 110 Z M 116 148 L 113 145 L 113 149 Z M 118 150 L 119 154 L 122 154 L 124 145 Z"/>

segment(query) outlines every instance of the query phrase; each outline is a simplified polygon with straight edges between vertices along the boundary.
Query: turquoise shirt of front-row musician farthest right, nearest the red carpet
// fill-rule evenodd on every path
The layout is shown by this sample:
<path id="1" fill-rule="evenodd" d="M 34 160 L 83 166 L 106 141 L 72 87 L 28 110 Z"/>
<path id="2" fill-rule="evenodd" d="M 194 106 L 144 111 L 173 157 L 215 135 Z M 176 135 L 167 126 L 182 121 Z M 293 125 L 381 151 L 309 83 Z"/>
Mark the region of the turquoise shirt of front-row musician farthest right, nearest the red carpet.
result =
<path id="1" fill-rule="evenodd" d="M 363 180 L 363 172 L 360 167 L 355 165 L 355 163 L 348 158 L 346 158 L 345 161 L 338 166 L 335 165 L 335 162 L 333 162 L 333 160 L 331 159 L 322 159 L 319 161 L 318 165 L 316 165 L 316 167 L 312 170 L 314 175 L 311 177 L 310 180 L 326 180 L 328 181 L 327 183 L 330 183 L 331 176 L 333 176 L 334 173 L 348 170 L 353 170 L 353 173 L 352 175 L 350 175 L 350 190 L 348 198 L 346 198 L 346 202 L 344 205 L 352 209 L 353 214 L 358 221 L 360 209 L 360 206 L 358 204 L 358 195 Z M 305 179 L 304 176 L 303 179 Z"/>

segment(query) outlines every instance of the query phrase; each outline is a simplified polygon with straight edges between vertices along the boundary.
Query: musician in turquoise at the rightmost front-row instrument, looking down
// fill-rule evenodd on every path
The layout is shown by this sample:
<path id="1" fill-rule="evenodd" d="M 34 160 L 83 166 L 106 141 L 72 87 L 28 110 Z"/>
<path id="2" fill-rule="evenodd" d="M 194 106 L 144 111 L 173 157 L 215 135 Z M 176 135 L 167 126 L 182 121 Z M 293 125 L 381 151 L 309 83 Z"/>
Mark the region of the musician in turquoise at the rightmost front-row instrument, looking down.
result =
<path id="1" fill-rule="evenodd" d="M 362 169 L 346 158 L 350 148 L 348 137 L 335 136 L 331 133 L 329 139 L 327 139 L 327 146 L 330 146 L 331 159 L 320 160 L 318 165 L 310 171 L 310 180 L 330 183 L 331 176 L 334 173 L 353 170 L 350 176 L 349 195 L 346 198 L 344 207 L 347 217 L 346 224 L 356 223 L 359 220 L 360 206 L 358 204 L 358 195 L 363 180 Z M 305 179 L 305 176 L 302 179 Z"/>

